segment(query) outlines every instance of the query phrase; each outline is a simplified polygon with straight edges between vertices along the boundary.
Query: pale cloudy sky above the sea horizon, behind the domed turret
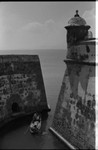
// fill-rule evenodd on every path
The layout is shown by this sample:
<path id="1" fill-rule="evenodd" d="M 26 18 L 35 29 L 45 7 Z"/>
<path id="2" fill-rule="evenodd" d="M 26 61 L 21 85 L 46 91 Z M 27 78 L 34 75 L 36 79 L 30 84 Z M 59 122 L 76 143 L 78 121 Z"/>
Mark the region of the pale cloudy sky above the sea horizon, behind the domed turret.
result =
<path id="1" fill-rule="evenodd" d="M 77 9 L 95 36 L 95 2 L 1 2 L 0 50 L 65 49 L 64 26 Z"/>

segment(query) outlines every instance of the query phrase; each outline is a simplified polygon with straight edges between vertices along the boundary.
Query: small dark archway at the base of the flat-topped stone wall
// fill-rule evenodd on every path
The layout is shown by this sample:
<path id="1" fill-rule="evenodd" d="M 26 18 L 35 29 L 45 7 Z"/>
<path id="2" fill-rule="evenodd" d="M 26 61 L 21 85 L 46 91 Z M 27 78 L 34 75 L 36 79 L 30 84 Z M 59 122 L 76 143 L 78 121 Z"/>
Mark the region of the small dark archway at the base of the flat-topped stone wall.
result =
<path id="1" fill-rule="evenodd" d="M 13 94 L 6 101 L 6 111 L 7 115 L 11 115 L 14 113 L 19 113 L 24 110 L 24 104 L 22 99 L 18 94 Z"/>

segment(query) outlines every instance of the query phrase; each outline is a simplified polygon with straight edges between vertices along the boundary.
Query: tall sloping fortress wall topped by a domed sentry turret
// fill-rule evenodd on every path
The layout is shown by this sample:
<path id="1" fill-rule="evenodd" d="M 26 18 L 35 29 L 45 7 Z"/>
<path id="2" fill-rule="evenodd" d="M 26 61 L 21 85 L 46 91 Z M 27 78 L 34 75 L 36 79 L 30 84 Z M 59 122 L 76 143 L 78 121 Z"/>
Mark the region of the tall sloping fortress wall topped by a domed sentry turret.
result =
<path id="1" fill-rule="evenodd" d="M 50 129 L 73 149 L 94 149 L 96 41 L 87 38 L 90 27 L 78 14 L 69 22 L 66 70 Z"/>

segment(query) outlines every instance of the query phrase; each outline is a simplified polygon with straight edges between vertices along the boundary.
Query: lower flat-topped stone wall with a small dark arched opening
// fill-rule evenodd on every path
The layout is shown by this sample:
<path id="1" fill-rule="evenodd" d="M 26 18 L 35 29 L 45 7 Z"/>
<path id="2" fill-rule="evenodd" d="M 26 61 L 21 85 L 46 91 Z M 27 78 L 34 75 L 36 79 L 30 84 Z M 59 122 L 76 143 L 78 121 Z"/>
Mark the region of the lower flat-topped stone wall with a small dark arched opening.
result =
<path id="1" fill-rule="evenodd" d="M 0 120 L 15 113 L 48 111 L 37 55 L 0 55 Z"/>

